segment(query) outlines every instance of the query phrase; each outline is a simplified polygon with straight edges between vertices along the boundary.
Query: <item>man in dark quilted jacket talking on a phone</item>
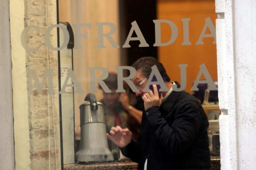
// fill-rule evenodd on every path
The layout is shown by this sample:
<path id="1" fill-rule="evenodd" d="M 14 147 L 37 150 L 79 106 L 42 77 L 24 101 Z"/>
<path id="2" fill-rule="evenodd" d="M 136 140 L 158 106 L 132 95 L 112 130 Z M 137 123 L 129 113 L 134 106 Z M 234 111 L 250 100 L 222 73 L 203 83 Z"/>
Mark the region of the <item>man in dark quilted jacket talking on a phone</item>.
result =
<path id="1" fill-rule="evenodd" d="M 169 91 L 158 95 L 144 92 L 151 67 L 156 65 L 166 79 Z M 162 63 L 152 57 L 137 60 L 132 67 L 136 75 L 132 79 L 138 88 L 137 96 L 144 100 L 140 137 L 131 138 L 129 129 L 112 127 L 107 137 L 121 148 L 123 155 L 138 163 L 138 169 L 210 169 L 207 116 L 199 101 L 185 91 L 173 91 L 174 84 Z"/>

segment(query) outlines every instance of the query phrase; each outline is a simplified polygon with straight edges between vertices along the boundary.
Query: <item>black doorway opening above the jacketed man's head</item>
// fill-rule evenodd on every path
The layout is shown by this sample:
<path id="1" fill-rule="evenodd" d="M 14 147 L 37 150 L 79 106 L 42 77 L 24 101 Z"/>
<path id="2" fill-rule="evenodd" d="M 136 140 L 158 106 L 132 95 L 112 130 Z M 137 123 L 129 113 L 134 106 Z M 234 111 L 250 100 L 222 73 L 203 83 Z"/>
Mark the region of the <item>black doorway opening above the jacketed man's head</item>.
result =
<path id="1" fill-rule="evenodd" d="M 139 47 L 140 41 L 130 41 L 130 48 L 122 48 L 121 61 L 131 66 L 138 58 L 152 56 L 157 59 L 157 47 L 155 43 L 156 0 L 121 0 L 120 6 L 120 47 L 125 43 L 127 35 L 136 21 L 149 47 Z M 133 32 L 132 37 L 136 37 Z M 126 59 L 124 59 L 126 58 Z M 125 60 L 125 62 L 124 62 Z"/>

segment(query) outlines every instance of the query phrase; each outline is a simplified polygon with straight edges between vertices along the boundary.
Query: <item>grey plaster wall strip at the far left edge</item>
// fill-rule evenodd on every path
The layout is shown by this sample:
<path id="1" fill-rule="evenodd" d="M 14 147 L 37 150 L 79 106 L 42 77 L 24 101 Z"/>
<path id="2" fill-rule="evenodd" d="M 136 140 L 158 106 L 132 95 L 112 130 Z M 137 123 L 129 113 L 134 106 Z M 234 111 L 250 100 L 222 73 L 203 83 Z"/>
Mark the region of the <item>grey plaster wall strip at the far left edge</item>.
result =
<path id="1" fill-rule="evenodd" d="M 0 169 L 14 169 L 12 61 L 9 0 L 1 2 L 0 23 Z"/>

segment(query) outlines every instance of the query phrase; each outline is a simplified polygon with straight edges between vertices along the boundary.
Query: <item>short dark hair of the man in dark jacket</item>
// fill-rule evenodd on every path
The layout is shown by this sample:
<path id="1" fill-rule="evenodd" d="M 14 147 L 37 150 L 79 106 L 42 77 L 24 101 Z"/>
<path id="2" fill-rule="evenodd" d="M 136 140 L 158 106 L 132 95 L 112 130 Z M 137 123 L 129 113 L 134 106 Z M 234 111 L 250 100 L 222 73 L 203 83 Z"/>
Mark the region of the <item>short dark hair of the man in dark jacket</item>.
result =
<path id="1" fill-rule="evenodd" d="M 161 76 L 165 77 L 166 81 L 170 81 L 170 77 L 167 75 L 163 64 L 153 57 L 142 57 L 132 64 L 136 70 L 141 70 L 145 77 L 148 77 L 152 71 L 151 67 L 156 65 Z"/>

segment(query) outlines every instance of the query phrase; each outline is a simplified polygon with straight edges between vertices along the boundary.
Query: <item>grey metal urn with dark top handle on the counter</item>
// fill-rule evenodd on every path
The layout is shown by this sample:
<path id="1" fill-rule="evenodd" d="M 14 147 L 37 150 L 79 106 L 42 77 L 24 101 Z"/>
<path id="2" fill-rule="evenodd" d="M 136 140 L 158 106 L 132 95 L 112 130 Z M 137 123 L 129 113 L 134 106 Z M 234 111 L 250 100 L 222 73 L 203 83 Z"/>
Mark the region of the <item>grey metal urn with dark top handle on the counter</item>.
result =
<path id="1" fill-rule="evenodd" d="M 93 93 L 86 95 L 87 103 L 80 105 L 81 141 L 76 153 L 77 163 L 114 161 L 108 148 L 103 105 Z"/>

